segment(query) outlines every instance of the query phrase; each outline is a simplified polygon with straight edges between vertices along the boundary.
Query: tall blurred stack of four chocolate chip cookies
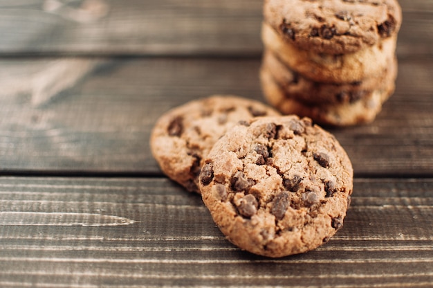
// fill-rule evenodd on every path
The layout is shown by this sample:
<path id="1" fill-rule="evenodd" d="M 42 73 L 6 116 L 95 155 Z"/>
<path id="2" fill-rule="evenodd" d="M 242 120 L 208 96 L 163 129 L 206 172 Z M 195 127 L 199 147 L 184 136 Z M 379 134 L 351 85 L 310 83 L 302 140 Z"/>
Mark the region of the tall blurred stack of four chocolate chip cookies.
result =
<path id="1" fill-rule="evenodd" d="M 394 92 L 397 0 L 265 0 L 261 84 L 284 114 L 369 123 Z"/>

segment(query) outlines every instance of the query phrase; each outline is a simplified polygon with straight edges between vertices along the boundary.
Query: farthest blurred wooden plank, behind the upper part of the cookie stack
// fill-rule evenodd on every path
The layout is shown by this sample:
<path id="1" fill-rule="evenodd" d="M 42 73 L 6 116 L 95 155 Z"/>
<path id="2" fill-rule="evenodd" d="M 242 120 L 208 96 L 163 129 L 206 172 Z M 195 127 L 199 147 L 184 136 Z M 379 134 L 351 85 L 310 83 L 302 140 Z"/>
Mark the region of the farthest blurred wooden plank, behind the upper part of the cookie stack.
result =
<path id="1" fill-rule="evenodd" d="M 432 2 L 400 4 L 398 55 L 431 55 Z M 259 55 L 262 5 L 262 0 L 0 1 L 0 55 Z"/>

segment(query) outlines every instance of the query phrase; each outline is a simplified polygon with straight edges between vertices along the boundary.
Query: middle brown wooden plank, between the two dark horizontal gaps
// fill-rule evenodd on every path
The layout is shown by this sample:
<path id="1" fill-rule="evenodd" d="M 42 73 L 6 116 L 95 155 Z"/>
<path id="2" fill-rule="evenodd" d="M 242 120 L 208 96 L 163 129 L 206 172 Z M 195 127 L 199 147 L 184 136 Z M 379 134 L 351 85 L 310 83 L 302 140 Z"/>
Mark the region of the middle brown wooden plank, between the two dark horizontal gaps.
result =
<path id="1" fill-rule="evenodd" d="M 35 105 L 31 83 L 52 61 L 0 62 L 3 173 L 159 174 L 149 133 L 165 111 L 214 93 L 264 100 L 259 60 L 133 58 L 110 60 Z M 432 174 L 432 67 L 432 58 L 400 60 L 396 93 L 374 123 L 326 128 L 356 175 Z"/>

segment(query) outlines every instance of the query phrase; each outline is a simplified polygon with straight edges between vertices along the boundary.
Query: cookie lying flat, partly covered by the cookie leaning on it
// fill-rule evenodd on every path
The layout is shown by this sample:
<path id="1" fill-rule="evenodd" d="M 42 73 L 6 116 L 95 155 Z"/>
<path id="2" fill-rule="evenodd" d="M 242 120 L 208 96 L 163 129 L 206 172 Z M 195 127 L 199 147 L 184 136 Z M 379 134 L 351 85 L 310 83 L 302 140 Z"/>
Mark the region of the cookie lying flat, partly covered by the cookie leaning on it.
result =
<path id="1" fill-rule="evenodd" d="M 151 152 L 170 179 L 199 192 L 203 158 L 227 129 L 255 116 L 277 115 L 261 102 L 237 96 L 193 100 L 158 119 L 151 132 Z"/>

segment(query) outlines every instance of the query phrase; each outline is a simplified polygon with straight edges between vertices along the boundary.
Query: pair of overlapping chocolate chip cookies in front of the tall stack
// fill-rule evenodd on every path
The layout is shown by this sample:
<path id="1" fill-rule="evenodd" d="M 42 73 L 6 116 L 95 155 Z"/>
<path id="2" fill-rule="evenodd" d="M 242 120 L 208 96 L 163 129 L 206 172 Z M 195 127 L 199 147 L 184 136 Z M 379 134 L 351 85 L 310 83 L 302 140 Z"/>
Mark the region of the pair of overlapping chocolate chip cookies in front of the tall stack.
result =
<path id="1" fill-rule="evenodd" d="M 351 161 L 309 118 L 281 116 L 255 100 L 211 96 L 167 111 L 150 145 L 161 170 L 199 193 L 221 232 L 241 249 L 268 257 L 303 253 L 342 227 Z"/>

